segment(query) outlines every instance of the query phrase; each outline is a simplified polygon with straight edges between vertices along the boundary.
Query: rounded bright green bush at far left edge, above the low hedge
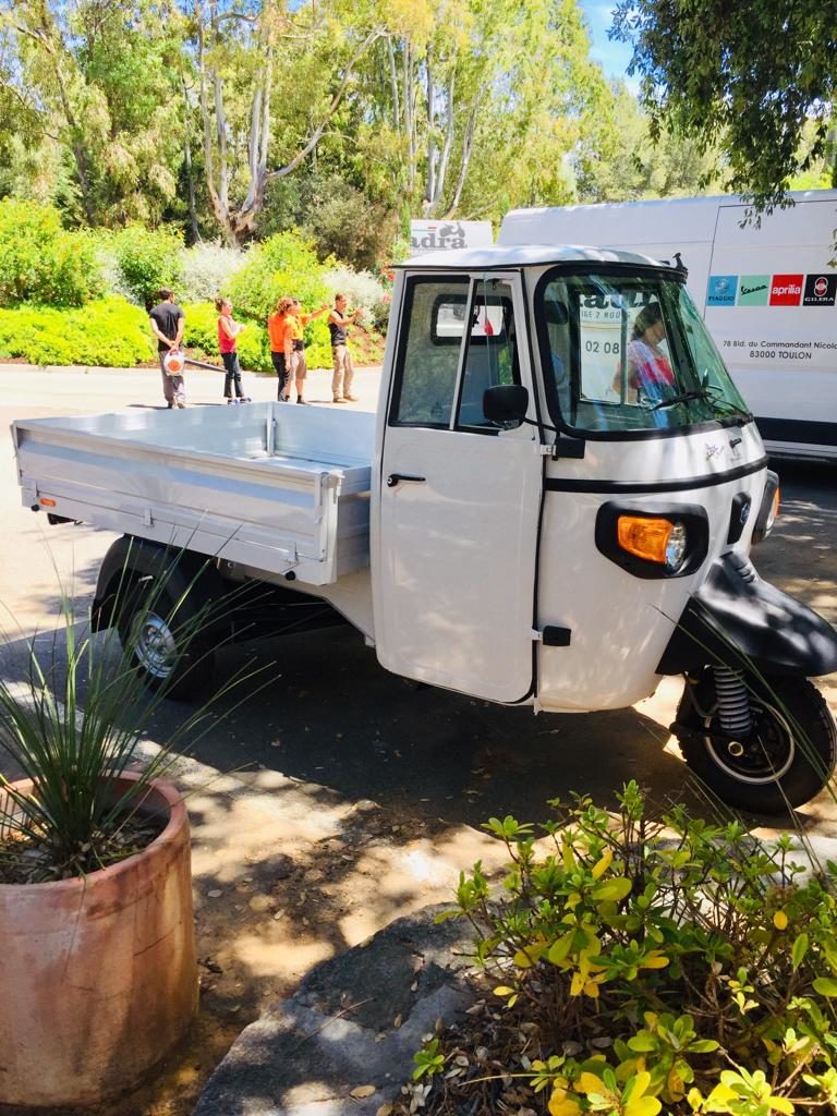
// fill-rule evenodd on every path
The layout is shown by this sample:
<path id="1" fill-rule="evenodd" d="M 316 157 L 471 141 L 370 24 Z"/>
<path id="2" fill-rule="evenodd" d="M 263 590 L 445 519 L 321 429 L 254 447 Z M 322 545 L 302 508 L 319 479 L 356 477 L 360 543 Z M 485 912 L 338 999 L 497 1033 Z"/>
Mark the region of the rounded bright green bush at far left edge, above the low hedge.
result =
<path id="1" fill-rule="evenodd" d="M 50 205 L 0 201 L 0 306 L 83 306 L 103 291 L 92 240 L 66 232 Z"/>

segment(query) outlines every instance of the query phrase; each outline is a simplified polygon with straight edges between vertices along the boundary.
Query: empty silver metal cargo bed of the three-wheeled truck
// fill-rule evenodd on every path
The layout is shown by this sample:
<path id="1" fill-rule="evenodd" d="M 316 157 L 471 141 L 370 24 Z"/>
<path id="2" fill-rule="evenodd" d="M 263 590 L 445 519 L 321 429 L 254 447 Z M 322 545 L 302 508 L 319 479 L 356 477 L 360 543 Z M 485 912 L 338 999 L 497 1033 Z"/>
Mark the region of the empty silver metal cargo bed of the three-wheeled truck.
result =
<path id="1" fill-rule="evenodd" d="M 368 567 L 374 435 L 282 403 L 12 424 L 25 504 L 309 585 Z"/>

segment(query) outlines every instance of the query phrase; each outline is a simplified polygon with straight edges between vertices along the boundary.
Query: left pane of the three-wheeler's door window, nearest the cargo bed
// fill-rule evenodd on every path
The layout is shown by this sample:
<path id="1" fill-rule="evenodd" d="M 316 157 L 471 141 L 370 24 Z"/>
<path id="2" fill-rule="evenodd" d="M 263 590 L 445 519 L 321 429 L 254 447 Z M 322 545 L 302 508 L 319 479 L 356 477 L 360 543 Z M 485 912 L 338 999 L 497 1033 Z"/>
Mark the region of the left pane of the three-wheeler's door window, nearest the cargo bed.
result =
<path id="1" fill-rule="evenodd" d="M 466 305 L 464 276 L 407 281 L 392 424 L 450 426 Z"/>

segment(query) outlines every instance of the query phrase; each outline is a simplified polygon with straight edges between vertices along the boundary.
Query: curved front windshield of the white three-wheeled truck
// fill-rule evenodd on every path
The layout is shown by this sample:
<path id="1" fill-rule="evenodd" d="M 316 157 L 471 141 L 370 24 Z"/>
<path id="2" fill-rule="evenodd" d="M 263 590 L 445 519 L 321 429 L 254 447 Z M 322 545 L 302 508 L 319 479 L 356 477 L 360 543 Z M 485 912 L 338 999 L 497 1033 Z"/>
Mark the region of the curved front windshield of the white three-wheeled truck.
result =
<path id="1" fill-rule="evenodd" d="M 539 290 L 540 352 L 558 422 L 629 434 L 752 417 L 682 283 L 561 273 Z"/>

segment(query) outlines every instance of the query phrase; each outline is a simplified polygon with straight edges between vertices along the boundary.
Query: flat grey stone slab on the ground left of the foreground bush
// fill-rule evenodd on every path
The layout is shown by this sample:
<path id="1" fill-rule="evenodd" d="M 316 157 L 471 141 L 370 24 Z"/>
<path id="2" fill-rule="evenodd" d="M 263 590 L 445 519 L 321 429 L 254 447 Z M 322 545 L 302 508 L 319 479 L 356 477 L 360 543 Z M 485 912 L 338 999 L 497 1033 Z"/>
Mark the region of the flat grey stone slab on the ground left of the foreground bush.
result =
<path id="1" fill-rule="evenodd" d="M 423 1036 L 472 1002 L 473 933 L 443 905 L 397 918 L 326 961 L 233 1043 L 193 1116 L 375 1116 L 414 1068 Z M 352 1090 L 374 1086 L 367 1097 Z"/>

